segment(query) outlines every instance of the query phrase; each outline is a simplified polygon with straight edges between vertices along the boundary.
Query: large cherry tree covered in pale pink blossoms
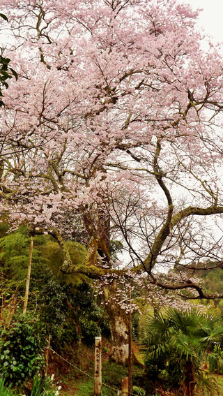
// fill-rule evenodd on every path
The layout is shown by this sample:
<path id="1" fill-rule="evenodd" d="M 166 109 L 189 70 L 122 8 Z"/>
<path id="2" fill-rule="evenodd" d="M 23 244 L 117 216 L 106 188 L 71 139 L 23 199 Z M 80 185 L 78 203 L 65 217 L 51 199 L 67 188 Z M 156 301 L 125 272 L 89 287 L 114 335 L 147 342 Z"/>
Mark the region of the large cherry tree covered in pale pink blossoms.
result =
<path id="1" fill-rule="evenodd" d="M 197 12 L 175 0 L 2 5 L 20 78 L 0 120 L 1 210 L 13 227 L 52 235 L 64 272 L 126 282 L 143 273 L 151 286 L 208 297 L 192 276 L 222 265 L 223 79 Z M 75 231 L 88 245 L 82 265 L 64 244 Z M 111 258 L 117 239 L 128 265 Z M 125 362 L 125 314 L 107 312 L 119 316 L 114 357 Z"/>

